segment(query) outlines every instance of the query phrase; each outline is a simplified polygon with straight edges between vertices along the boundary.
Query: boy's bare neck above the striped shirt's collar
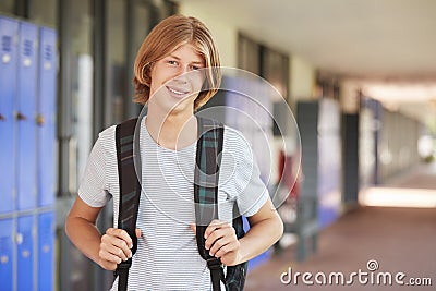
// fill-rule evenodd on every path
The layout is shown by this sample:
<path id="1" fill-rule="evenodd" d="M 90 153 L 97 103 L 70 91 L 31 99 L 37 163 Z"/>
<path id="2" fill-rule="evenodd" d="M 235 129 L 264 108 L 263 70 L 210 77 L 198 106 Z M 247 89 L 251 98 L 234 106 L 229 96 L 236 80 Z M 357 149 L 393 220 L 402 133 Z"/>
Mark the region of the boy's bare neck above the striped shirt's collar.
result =
<path id="1" fill-rule="evenodd" d="M 146 126 L 155 142 L 166 148 L 180 149 L 197 138 L 197 123 L 193 111 L 170 113 L 148 108 Z"/>

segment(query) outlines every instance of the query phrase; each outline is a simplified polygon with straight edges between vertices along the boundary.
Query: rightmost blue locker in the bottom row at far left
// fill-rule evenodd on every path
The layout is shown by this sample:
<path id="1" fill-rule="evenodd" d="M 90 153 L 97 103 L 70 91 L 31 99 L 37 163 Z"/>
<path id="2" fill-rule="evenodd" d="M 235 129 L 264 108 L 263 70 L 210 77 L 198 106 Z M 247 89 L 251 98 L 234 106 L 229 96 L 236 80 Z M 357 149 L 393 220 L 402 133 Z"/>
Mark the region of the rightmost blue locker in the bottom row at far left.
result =
<path id="1" fill-rule="evenodd" d="M 38 216 L 38 290 L 53 290 L 55 278 L 55 214 Z"/>

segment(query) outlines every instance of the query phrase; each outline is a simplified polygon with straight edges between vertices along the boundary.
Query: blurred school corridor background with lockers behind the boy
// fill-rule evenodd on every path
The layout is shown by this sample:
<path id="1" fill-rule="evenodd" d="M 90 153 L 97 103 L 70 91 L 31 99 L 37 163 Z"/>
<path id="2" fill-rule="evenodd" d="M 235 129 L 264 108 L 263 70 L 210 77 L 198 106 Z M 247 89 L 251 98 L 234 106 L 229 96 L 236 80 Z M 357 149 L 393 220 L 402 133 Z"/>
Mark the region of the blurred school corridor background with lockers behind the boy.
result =
<path id="1" fill-rule="evenodd" d="M 254 149 L 271 193 L 286 197 L 286 234 L 251 262 L 246 290 L 307 289 L 280 276 L 367 271 L 370 259 L 426 282 L 402 290 L 433 290 L 435 12 L 433 0 L 1 0 L 0 290 L 111 286 L 63 225 L 98 133 L 142 109 L 131 101 L 140 45 L 174 13 L 210 28 L 223 66 L 279 93 L 254 89 L 272 119 L 226 92 L 213 99 L 265 121 L 269 160 Z M 299 131 L 278 129 L 283 104 Z M 258 128 L 226 118 L 256 144 Z M 99 228 L 111 221 L 109 205 Z"/>

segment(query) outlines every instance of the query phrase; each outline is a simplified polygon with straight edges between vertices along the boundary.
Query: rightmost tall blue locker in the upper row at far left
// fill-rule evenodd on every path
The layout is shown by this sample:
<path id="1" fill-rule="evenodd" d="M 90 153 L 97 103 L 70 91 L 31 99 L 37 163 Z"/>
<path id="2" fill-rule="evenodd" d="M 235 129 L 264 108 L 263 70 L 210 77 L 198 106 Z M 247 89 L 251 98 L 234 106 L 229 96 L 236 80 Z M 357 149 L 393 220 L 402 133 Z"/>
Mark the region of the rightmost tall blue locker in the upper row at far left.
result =
<path id="1" fill-rule="evenodd" d="M 57 33 L 41 27 L 39 31 L 38 85 L 38 206 L 55 204 L 56 192 L 56 88 Z"/>

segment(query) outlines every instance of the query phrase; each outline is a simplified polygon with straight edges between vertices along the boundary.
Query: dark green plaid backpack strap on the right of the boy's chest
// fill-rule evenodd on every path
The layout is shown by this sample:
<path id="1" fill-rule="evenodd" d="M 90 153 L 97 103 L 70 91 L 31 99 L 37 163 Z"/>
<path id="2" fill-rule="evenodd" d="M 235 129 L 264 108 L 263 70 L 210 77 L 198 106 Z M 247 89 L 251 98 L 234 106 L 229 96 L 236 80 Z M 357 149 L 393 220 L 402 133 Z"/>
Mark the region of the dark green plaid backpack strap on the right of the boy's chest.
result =
<path id="1" fill-rule="evenodd" d="M 210 270 L 213 290 L 219 291 L 220 282 L 226 283 L 222 264 L 219 258 L 210 256 L 205 248 L 204 234 L 207 226 L 214 219 L 218 219 L 218 180 L 223 125 L 199 117 L 197 121 L 198 141 L 194 174 L 196 241 L 198 253 L 206 259 Z"/>

